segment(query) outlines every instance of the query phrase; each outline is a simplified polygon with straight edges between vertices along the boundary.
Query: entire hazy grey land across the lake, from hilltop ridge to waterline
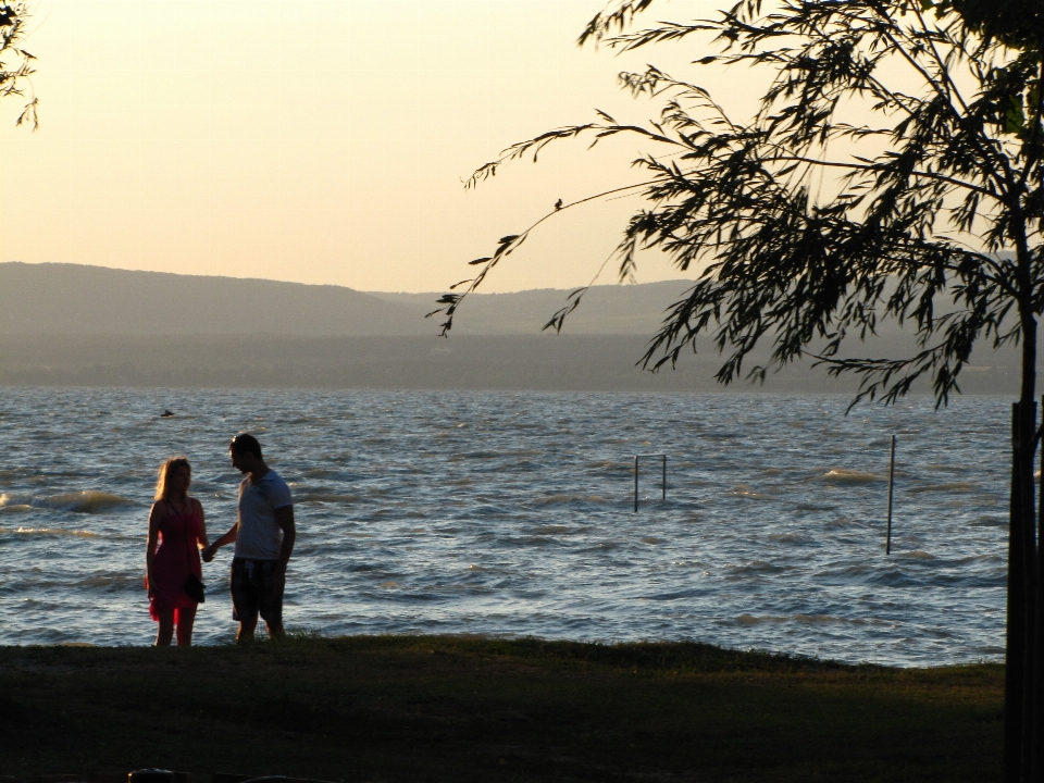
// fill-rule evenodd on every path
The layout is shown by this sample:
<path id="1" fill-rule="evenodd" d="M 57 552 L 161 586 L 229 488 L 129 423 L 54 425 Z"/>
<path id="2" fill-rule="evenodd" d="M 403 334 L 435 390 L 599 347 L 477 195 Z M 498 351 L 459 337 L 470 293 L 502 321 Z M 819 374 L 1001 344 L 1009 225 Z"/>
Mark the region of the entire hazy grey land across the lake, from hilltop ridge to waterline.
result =
<path id="1" fill-rule="evenodd" d="M 434 294 L 89 266 L 0 263 L 0 386 L 113 388 L 358 388 L 511 391 L 755 391 L 852 395 L 858 378 L 811 361 L 765 386 L 714 381 L 712 335 L 676 369 L 636 366 L 666 312 L 693 281 L 598 285 L 561 334 L 542 331 L 568 290 L 473 294 L 448 339 Z M 909 331 L 882 321 L 847 356 L 917 352 Z M 743 373 L 770 363 L 762 340 Z M 812 347 L 815 350 L 815 347 Z M 659 356 L 656 357 L 657 359 Z M 975 395 L 1017 395 L 1020 355 L 983 349 L 960 375 Z M 928 384 L 918 388 L 928 389 Z"/>

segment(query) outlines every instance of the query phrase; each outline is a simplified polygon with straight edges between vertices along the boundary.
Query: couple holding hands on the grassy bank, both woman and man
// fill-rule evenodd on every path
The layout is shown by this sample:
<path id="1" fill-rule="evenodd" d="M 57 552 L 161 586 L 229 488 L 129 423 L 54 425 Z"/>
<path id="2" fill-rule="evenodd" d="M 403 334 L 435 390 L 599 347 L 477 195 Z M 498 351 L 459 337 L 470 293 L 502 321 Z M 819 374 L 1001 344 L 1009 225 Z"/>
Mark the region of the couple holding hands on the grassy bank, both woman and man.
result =
<path id="1" fill-rule="evenodd" d="M 171 457 L 160 465 L 145 550 L 149 613 L 160 624 L 157 645 L 171 644 L 175 629 L 178 646 L 192 643 L 196 609 L 203 600 L 200 556 L 210 562 L 219 548 L 233 542 L 229 587 L 232 617 L 239 622 L 236 642 L 253 641 L 259 616 L 270 638 L 283 635 L 286 564 L 297 537 L 290 488 L 264 463 L 253 435 L 236 435 L 228 453 L 232 465 L 244 473 L 236 524 L 213 544 L 207 539 L 202 505 L 188 495 L 188 460 Z"/>

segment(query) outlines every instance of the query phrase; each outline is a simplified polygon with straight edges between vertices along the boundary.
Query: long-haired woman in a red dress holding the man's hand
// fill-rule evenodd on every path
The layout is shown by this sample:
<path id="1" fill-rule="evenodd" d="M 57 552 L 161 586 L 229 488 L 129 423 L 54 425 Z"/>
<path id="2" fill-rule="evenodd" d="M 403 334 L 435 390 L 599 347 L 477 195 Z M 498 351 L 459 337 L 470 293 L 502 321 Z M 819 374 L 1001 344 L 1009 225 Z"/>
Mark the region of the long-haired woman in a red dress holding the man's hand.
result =
<path id="1" fill-rule="evenodd" d="M 202 580 L 199 550 L 209 542 L 203 507 L 188 496 L 191 482 L 192 469 L 184 457 L 171 457 L 160 465 L 145 549 L 149 614 L 160 623 L 157 646 L 171 644 L 175 626 L 178 647 L 192 643 L 197 605 L 185 592 L 185 580 L 189 573 Z"/>

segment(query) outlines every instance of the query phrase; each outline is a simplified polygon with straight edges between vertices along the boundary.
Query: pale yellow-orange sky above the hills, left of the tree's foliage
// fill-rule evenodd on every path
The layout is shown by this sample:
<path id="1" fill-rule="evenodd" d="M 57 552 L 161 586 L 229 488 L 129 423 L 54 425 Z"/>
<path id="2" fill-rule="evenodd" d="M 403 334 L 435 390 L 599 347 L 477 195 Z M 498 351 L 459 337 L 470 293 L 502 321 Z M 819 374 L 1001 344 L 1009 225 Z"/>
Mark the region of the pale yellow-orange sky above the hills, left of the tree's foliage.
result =
<path id="1" fill-rule="evenodd" d="M 647 16 L 709 15 L 660 0 Z M 0 261 L 443 290 L 558 198 L 633 182 L 633 142 L 549 149 L 476 190 L 509 144 L 655 104 L 616 83 L 655 62 L 575 39 L 602 0 L 37 0 L 25 48 L 40 128 L 0 107 Z M 692 75 L 693 71 L 686 72 Z M 725 100 L 742 71 L 697 71 Z M 589 281 L 636 201 L 556 215 L 483 290 Z M 662 259 L 639 282 L 680 274 Z M 614 282 L 607 271 L 602 282 Z"/>

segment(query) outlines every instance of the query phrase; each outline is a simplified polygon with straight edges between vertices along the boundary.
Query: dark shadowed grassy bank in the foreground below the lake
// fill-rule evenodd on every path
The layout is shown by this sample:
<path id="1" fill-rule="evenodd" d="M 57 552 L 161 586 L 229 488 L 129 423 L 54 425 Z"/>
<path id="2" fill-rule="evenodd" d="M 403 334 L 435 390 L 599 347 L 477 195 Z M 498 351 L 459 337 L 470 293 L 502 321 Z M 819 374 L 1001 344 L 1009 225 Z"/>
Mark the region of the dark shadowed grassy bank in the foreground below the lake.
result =
<path id="1" fill-rule="evenodd" d="M 1003 668 L 445 636 L 0 648 L 0 775 L 996 781 Z"/>

